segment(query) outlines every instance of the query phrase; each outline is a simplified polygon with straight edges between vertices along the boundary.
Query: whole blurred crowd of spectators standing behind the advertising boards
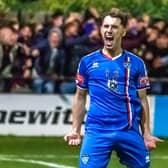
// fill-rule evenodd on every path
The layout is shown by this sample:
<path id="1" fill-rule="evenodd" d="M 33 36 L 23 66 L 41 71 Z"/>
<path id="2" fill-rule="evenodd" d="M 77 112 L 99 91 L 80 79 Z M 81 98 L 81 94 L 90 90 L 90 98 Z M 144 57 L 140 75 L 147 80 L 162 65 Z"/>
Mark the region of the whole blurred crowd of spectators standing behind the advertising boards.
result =
<path id="1" fill-rule="evenodd" d="M 80 58 L 102 47 L 100 15 L 55 12 L 46 22 L 1 23 L 0 92 L 74 93 Z M 168 25 L 148 15 L 131 16 L 123 48 L 141 57 L 151 94 L 168 94 Z"/>

